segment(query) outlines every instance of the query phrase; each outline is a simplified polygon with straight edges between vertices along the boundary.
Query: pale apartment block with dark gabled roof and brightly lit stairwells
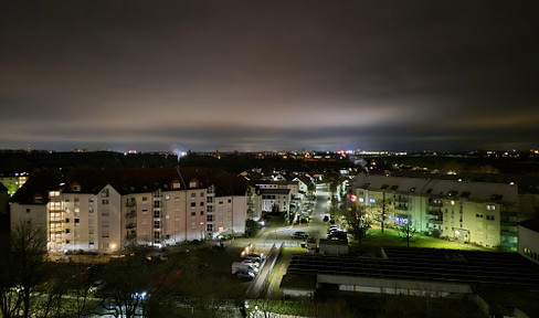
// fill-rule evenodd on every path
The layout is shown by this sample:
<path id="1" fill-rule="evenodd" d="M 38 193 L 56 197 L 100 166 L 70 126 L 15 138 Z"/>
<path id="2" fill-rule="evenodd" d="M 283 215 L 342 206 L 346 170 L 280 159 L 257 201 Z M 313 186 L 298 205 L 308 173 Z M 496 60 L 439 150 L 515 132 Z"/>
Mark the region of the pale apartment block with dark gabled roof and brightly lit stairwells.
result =
<path id="1" fill-rule="evenodd" d="M 235 176 L 160 168 L 44 178 L 32 174 L 17 193 L 11 220 L 38 220 L 52 252 L 114 252 L 131 242 L 161 246 L 213 239 L 226 230 L 244 232 L 246 186 Z"/>

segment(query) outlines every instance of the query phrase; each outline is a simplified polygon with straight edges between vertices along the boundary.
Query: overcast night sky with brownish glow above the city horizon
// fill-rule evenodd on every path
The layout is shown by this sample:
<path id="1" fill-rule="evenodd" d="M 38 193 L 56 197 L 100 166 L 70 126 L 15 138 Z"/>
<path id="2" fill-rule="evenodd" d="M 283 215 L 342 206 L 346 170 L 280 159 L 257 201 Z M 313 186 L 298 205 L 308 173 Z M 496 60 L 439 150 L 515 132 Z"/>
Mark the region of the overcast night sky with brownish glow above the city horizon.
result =
<path id="1" fill-rule="evenodd" d="M 537 1 L 10 2 L 0 149 L 539 147 Z"/>

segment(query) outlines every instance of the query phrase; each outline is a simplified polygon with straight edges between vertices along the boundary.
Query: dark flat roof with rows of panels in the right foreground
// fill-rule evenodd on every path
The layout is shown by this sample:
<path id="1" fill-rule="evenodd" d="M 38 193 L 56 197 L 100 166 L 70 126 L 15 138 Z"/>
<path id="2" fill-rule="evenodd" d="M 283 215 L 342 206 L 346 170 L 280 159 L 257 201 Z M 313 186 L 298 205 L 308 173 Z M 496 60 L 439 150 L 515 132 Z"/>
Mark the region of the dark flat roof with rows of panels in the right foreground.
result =
<path id="1" fill-rule="evenodd" d="M 385 247 L 388 258 L 295 254 L 287 274 L 461 283 L 539 289 L 539 266 L 515 253 Z"/>

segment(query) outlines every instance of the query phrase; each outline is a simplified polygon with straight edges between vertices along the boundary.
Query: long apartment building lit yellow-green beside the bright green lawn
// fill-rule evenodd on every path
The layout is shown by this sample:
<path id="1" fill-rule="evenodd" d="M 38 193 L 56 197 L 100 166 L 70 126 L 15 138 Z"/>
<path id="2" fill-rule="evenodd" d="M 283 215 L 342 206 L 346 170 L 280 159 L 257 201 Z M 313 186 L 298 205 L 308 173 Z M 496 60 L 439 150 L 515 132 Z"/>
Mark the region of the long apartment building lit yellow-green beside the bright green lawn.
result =
<path id="1" fill-rule="evenodd" d="M 349 195 L 358 205 L 371 206 L 370 213 L 383 210 L 390 226 L 411 220 L 422 232 L 511 251 L 518 247 L 516 223 L 533 216 L 519 209 L 516 184 L 360 173 Z"/>

